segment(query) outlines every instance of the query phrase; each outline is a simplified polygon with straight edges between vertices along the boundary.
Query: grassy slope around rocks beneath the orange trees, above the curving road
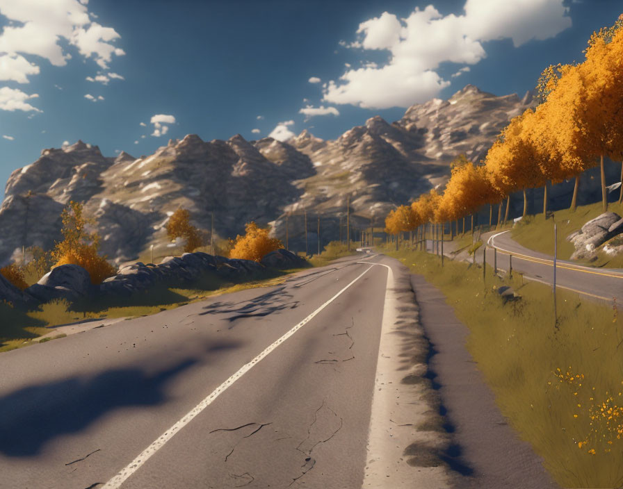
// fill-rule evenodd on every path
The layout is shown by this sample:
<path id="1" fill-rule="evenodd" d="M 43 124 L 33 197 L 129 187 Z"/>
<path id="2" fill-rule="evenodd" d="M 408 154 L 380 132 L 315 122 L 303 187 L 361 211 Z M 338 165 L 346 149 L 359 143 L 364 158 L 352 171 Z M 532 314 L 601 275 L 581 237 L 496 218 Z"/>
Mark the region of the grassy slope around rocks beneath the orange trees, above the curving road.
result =
<path id="1" fill-rule="evenodd" d="M 621 215 L 623 208 L 620 204 L 610 203 L 608 204 L 608 211 Z M 556 222 L 557 256 L 561 260 L 569 260 L 575 251 L 575 247 L 571 242 L 567 241 L 567 236 L 581 229 L 586 222 L 601 213 L 601 202 L 597 202 L 588 206 L 578 206 L 575 212 L 569 209 L 556 210 L 553 213 L 553 218 L 550 217 L 549 219 L 545 219 L 543 214 L 528 216 L 525 219 L 521 219 L 513 227 L 511 231 L 512 239 L 528 249 L 553 256 L 553 224 Z M 623 256 L 607 256 L 605 253 L 600 252 L 596 261 L 583 264 L 596 267 L 620 268 L 623 267 Z"/>

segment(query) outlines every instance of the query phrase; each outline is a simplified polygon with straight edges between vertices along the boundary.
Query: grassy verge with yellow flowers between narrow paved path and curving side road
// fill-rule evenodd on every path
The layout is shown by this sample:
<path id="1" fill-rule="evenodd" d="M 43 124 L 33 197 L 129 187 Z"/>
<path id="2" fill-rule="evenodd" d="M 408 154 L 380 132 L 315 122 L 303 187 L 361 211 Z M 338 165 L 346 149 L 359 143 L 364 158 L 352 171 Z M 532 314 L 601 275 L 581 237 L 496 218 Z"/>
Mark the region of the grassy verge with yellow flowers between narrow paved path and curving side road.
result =
<path id="1" fill-rule="evenodd" d="M 615 426 L 621 424 L 623 431 L 623 412 L 608 426 L 607 420 L 590 419 L 595 410 L 601 413 L 602 402 L 623 404 L 623 318 L 618 319 L 616 308 L 579 301 L 561 290 L 556 327 L 547 285 L 521 285 L 518 274 L 499 279 L 487 265 L 485 288 L 478 265 L 445 260 L 442 268 L 438 257 L 421 251 L 387 254 L 444 292 L 469 328 L 467 348 L 501 412 L 544 458 L 560 486 L 611 488 L 623 483 L 623 439 L 617 438 Z M 494 291 L 500 285 L 511 285 L 521 299 L 504 303 Z M 580 377 L 569 381 L 572 374 Z"/>

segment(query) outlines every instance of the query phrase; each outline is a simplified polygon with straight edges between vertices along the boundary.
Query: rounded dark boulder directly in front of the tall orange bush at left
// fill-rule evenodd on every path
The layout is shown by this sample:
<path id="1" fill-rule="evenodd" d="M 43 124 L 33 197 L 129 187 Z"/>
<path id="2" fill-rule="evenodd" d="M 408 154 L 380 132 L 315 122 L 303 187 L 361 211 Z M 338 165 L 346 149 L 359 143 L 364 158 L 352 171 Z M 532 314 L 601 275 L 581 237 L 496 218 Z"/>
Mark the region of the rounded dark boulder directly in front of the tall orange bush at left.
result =
<path id="1" fill-rule="evenodd" d="M 89 272 L 79 265 L 54 267 L 41 279 L 26 289 L 26 293 L 41 302 L 52 299 L 74 301 L 90 296 L 97 290 L 92 285 Z"/>

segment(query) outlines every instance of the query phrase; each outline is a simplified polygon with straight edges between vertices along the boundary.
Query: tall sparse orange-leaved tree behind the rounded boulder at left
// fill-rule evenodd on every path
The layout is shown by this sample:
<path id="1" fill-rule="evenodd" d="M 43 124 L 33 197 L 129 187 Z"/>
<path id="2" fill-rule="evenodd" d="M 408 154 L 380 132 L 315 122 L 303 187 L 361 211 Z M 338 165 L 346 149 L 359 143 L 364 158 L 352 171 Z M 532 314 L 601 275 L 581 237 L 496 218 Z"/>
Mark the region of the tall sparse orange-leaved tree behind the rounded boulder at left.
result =
<path id="1" fill-rule="evenodd" d="M 56 242 L 52 251 L 54 267 L 60 265 L 79 265 L 90 276 L 91 283 L 102 283 L 104 279 L 113 276 L 115 267 L 106 261 L 106 256 L 99 256 L 99 235 L 88 231 L 88 226 L 95 226 L 95 220 L 83 215 L 83 205 L 70 201 L 63 209 L 60 217 L 63 219 L 63 241 Z"/>

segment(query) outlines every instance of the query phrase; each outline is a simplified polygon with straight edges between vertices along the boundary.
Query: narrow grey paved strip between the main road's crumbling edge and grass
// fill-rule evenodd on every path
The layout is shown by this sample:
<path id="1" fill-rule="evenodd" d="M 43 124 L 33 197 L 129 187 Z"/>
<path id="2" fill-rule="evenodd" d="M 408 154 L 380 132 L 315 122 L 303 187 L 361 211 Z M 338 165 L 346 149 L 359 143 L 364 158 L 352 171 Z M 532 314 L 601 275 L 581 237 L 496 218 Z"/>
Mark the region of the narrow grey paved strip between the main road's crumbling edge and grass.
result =
<path id="1" fill-rule="evenodd" d="M 469 334 L 439 289 L 411 276 L 419 322 L 430 342 L 427 376 L 439 392 L 453 454 L 464 465 L 462 488 L 558 488 L 531 446 L 519 439 L 465 347 Z"/>

